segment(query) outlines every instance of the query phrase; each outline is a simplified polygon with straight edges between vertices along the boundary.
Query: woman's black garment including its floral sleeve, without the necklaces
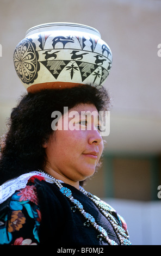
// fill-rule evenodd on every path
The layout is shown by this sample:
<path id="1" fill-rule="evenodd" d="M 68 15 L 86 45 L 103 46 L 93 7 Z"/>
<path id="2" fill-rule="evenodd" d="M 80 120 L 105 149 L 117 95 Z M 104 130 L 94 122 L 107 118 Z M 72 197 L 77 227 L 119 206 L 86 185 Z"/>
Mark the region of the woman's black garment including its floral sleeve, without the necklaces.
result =
<path id="1" fill-rule="evenodd" d="M 77 188 L 64 183 L 63 186 L 71 190 L 73 198 L 107 231 L 109 239 L 120 245 L 112 225 L 94 202 Z M 88 225 L 86 218 L 73 206 L 56 184 L 31 178 L 26 187 L 15 191 L 0 205 L 0 245 L 108 245 L 106 240 L 99 239 L 100 233 Z M 121 216 L 115 210 L 112 215 L 126 230 Z"/>

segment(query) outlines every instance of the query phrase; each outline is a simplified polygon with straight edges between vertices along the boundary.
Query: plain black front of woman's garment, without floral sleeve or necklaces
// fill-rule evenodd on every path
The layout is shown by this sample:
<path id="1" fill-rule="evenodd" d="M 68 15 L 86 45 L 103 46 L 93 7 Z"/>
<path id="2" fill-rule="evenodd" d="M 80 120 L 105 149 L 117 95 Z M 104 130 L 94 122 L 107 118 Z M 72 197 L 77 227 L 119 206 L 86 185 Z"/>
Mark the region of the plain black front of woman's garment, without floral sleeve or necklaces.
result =
<path id="1" fill-rule="evenodd" d="M 73 198 L 77 199 L 86 212 L 91 214 L 97 224 L 108 233 L 110 239 L 120 244 L 109 221 L 101 214 L 96 205 L 77 188 L 68 184 L 63 186 L 72 191 Z M 107 242 L 97 238 L 98 231 L 85 224 L 85 217 L 76 210 L 73 212 L 72 203 L 67 199 L 55 184 L 45 181 L 36 181 L 39 206 L 42 215 L 39 239 L 40 244 L 55 243 L 56 245 L 107 245 Z M 114 217 L 117 215 L 115 213 Z M 119 222 L 118 222 L 119 223 Z"/>

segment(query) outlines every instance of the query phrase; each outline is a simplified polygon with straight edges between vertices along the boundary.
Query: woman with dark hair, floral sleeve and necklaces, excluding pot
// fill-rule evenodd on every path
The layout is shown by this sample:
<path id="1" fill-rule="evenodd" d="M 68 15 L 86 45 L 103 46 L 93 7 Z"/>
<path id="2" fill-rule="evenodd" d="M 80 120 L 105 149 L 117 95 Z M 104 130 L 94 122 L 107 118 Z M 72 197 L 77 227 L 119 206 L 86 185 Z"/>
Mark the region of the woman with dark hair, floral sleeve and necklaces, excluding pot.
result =
<path id="1" fill-rule="evenodd" d="M 99 166 L 109 105 L 106 89 L 87 85 L 23 96 L 1 153 L 0 244 L 130 244 L 123 218 L 82 187 Z"/>

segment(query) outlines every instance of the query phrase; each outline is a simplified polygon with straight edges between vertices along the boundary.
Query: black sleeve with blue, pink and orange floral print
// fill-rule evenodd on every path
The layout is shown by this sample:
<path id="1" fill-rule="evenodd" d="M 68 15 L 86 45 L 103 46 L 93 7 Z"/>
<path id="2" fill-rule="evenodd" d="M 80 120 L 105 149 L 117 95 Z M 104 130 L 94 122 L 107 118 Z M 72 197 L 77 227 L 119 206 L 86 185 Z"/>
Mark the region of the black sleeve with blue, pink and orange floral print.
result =
<path id="1" fill-rule="evenodd" d="M 28 180 L 25 187 L 1 204 L 0 245 L 38 245 L 40 222 L 36 186 Z"/>

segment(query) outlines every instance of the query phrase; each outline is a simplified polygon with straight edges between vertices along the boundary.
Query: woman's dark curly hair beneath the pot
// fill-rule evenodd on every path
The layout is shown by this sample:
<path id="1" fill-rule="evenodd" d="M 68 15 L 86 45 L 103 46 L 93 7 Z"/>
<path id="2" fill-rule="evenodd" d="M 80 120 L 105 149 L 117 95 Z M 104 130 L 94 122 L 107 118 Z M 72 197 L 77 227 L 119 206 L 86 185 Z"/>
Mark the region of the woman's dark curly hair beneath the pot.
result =
<path id="1" fill-rule="evenodd" d="M 51 113 L 64 106 L 69 109 L 79 103 L 92 103 L 98 111 L 109 110 L 110 97 L 103 87 L 78 86 L 65 89 L 45 89 L 22 96 L 13 108 L 9 130 L 2 143 L 0 185 L 33 170 L 42 169 L 47 161 L 42 144 L 53 133 Z"/>

